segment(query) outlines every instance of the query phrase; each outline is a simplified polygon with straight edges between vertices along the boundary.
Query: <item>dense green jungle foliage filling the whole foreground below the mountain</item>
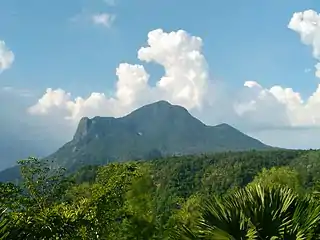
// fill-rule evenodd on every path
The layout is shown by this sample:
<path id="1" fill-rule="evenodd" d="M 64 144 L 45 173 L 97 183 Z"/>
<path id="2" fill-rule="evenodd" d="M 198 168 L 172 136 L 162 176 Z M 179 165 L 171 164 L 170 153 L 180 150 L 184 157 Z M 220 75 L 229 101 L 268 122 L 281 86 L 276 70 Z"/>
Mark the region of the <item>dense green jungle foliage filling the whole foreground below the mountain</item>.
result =
<path id="1" fill-rule="evenodd" d="M 87 166 L 36 158 L 0 185 L 0 239 L 320 239 L 320 151 Z"/>

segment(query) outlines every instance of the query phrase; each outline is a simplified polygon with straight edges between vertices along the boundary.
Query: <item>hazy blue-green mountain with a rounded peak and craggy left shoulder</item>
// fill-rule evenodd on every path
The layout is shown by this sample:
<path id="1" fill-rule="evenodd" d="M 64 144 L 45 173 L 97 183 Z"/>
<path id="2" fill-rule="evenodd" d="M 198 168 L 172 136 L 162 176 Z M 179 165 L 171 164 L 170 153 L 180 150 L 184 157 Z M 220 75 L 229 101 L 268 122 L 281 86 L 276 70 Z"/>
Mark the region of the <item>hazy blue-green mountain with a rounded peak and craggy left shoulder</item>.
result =
<path id="1" fill-rule="evenodd" d="M 89 164 L 270 148 L 228 124 L 208 126 L 185 108 L 159 101 L 121 118 L 82 118 L 73 139 L 46 159 L 73 171 Z M 0 181 L 14 172 L 0 172 Z"/>

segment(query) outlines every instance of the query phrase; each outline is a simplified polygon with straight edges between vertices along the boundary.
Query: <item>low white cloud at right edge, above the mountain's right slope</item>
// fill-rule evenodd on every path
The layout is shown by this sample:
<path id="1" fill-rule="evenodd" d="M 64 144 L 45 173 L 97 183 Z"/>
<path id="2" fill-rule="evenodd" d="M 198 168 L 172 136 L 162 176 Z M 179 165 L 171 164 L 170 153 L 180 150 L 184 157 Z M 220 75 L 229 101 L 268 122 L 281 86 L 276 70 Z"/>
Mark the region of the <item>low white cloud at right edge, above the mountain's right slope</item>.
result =
<path id="1" fill-rule="evenodd" d="M 292 88 L 263 88 L 257 82 L 245 82 L 246 96 L 236 103 L 235 111 L 251 124 L 274 127 L 320 126 L 320 85 L 304 101 Z M 244 98 L 246 100 L 243 100 Z"/>

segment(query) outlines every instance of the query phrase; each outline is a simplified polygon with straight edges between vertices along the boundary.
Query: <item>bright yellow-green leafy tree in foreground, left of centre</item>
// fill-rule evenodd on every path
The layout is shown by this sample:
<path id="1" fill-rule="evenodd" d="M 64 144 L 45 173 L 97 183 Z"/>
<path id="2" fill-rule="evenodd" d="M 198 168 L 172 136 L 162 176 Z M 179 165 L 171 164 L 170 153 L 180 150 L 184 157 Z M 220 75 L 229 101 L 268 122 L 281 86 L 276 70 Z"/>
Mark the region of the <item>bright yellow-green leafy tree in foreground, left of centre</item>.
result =
<path id="1" fill-rule="evenodd" d="M 109 164 L 98 170 L 90 197 L 81 204 L 82 238 L 118 239 L 127 217 L 126 193 L 140 176 L 137 163 Z"/>

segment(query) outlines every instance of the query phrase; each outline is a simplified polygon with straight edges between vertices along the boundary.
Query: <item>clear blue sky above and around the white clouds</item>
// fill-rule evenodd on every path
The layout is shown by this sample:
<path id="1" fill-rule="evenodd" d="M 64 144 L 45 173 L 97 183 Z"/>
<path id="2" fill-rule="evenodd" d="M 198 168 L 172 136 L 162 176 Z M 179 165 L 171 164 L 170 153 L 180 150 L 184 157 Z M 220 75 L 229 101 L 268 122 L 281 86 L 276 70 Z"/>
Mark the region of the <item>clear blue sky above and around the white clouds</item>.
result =
<path id="1" fill-rule="evenodd" d="M 0 3 L 0 36 L 16 61 L 1 86 L 62 87 L 89 94 L 113 87 L 120 62 L 137 62 L 136 52 L 156 28 L 184 29 L 204 41 L 210 71 L 231 84 L 259 80 L 310 94 L 317 83 L 305 74 L 314 60 L 287 28 L 292 13 L 320 8 L 311 1 L 18 1 Z M 111 29 L 71 19 L 81 13 L 116 14 Z M 161 72 L 161 68 L 157 69 Z"/>

